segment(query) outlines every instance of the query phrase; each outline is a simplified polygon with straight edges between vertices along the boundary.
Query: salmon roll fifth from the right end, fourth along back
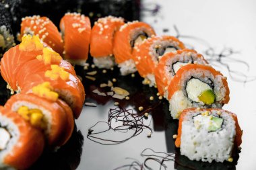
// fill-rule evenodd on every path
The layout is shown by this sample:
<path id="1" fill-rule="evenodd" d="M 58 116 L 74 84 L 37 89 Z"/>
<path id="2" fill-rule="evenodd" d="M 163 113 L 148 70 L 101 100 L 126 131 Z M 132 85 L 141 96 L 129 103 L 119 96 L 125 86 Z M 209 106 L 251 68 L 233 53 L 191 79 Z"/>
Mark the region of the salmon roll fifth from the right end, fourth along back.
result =
<path id="1" fill-rule="evenodd" d="M 128 75 L 137 71 L 132 59 L 135 44 L 155 36 L 153 28 L 144 22 L 128 22 L 121 26 L 114 38 L 113 53 L 115 61 L 120 67 L 121 75 Z"/>

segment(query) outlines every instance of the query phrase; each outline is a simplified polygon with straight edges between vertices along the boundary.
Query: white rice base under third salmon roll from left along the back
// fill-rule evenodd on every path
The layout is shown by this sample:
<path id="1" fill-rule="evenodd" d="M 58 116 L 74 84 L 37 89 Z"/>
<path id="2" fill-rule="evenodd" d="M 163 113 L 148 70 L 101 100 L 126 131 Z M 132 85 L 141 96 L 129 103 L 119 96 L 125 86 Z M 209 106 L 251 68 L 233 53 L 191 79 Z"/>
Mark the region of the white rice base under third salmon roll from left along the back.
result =
<path id="1" fill-rule="evenodd" d="M 111 69 L 115 66 L 115 59 L 113 56 L 94 57 L 93 61 L 99 69 Z"/>

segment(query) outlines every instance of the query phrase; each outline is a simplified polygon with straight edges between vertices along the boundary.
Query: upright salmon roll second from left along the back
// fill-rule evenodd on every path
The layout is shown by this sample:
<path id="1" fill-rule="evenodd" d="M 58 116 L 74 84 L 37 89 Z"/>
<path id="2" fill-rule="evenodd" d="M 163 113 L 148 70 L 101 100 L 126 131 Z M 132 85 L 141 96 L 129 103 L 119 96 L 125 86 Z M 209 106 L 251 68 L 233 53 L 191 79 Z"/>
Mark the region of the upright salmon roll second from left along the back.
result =
<path id="1" fill-rule="evenodd" d="M 64 40 L 65 59 L 84 65 L 88 58 L 91 24 L 89 17 L 80 13 L 66 13 L 59 25 Z"/>

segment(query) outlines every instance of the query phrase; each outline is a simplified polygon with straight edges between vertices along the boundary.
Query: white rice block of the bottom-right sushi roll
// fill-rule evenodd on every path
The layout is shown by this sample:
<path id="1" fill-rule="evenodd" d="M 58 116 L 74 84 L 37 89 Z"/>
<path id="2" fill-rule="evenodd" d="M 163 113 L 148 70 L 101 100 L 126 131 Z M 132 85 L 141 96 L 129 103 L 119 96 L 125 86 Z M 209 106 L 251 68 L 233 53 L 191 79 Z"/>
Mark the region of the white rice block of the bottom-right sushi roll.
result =
<path id="1" fill-rule="evenodd" d="M 217 162 L 228 160 L 236 134 L 232 116 L 222 112 L 221 118 L 224 119 L 222 128 L 216 132 L 208 132 L 205 128 L 195 128 L 193 116 L 196 115 L 190 112 L 182 122 L 181 155 L 185 155 L 190 160 L 209 163 L 214 160 Z M 217 111 L 212 111 L 211 115 L 218 117 Z"/>

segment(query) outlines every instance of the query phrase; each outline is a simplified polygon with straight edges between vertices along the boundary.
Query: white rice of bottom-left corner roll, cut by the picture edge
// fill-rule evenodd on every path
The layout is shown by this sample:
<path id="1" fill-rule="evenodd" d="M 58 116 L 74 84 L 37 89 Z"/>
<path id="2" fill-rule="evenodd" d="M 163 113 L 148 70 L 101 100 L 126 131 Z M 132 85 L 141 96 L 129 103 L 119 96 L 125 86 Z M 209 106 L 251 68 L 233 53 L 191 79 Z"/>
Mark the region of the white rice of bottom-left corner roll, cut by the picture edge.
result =
<path id="1" fill-rule="evenodd" d="M 1 122 L 1 127 L 5 127 L 9 132 L 9 134 L 11 134 L 11 138 L 7 143 L 6 148 L 0 151 L 0 169 L 14 169 L 12 167 L 9 167 L 9 165 L 5 165 L 3 161 L 6 155 L 11 154 L 13 147 L 15 145 L 16 146 L 19 145 L 18 139 L 20 138 L 20 131 L 18 129 L 18 126 L 16 126 L 12 120 L 3 116 L 2 114 L 0 114 L 0 122 Z"/>

